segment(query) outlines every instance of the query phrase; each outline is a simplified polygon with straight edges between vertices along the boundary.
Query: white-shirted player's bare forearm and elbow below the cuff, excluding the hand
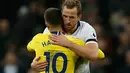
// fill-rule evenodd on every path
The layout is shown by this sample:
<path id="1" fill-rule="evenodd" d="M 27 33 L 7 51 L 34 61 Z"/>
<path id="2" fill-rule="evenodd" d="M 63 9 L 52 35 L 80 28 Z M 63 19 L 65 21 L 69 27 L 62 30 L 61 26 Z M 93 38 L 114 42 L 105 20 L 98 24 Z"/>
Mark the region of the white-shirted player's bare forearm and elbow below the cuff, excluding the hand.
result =
<path id="1" fill-rule="evenodd" d="M 68 44 L 66 44 L 66 46 L 78 53 L 81 57 L 87 57 L 90 60 L 98 59 L 97 43 L 88 43 L 85 46 L 80 46 L 68 40 Z"/>

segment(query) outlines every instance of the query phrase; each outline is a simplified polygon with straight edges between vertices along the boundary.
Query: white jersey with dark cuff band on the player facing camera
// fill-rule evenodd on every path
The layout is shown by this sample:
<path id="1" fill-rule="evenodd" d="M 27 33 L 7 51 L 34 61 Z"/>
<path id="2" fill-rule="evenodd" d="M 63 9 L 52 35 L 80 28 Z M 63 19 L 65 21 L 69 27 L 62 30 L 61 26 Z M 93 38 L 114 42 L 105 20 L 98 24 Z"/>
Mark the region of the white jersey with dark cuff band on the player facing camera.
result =
<path id="1" fill-rule="evenodd" d="M 48 32 L 49 30 L 48 28 L 46 28 L 44 30 L 44 33 L 48 33 Z M 95 43 L 97 40 L 97 36 L 94 28 L 90 24 L 84 21 L 78 22 L 78 27 L 72 35 L 76 36 L 77 38 L 80 38 L 81 40 L 86 42 L 86 44 Z M 89 60 L 83 58 L 78 59 L 75 73 L 90 73 Z"/>

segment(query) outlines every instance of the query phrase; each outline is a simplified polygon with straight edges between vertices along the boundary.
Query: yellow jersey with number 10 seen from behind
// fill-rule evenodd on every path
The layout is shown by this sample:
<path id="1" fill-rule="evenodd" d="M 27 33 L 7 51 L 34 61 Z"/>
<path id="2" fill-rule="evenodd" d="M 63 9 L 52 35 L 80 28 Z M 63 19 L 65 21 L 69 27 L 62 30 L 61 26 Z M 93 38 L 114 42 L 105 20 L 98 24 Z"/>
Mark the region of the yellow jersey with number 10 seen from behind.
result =
<path id="1" fill-rule="evenodd" d="M 78 56 L 68 48 L 52 45 L 50 34 L 38 34 L 28 44 L 28 50 L 34 49 L 37 56 L 42 56 L 40 61 L 47 60 L 46 73 L 74 73 Z M 79 39 L 66 36 L 69 40 L 79 44 L 85 43 Z M 45 72 L 43 72 L 45 73 Z"/>

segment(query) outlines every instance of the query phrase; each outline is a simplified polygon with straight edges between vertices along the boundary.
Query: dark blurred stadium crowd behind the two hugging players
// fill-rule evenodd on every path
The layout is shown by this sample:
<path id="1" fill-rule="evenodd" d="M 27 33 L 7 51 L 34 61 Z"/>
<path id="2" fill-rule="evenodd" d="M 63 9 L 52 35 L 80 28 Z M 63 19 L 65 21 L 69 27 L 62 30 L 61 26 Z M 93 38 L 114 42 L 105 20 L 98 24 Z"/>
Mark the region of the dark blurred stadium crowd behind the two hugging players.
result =
<path id="1" fill-rule="evenodd" d="M 0 0 L 0 73 L 37 73 L 27 42 L 43 32 L 44 10 L 63 0 Z M 96 30 L 106 58 L 91 62 L 91 73 L 130 73 L 130 0 L 81 0 L 82 20 Z"/>

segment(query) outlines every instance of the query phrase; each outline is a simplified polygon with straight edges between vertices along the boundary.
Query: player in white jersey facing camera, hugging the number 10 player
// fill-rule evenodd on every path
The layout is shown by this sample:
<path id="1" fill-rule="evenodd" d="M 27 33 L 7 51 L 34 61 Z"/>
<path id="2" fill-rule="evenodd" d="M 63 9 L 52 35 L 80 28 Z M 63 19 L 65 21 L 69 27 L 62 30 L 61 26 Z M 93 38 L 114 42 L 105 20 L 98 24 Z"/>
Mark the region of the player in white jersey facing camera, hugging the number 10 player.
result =
<path id="1" fill-rule="evenodd" d="M 54 41 L 53 44 L 72 48 L 75 53 L 81 56 L 81 59 L 77 61 L 75 73 L 90 73 L 89 60 L 96 60 L 98 58 L 96 32 L 90 24 L 80 21 L 82 14 L 79 0 L 65 0 L 62 4 L 62 15 L 64 19 L 64 31 L 68 35 L 73 35 L 84 40 L 87 46 L 76 45 L 66 39 L 63 35 L 51 36 L 51 39 Z M 44 30 L 44 33 L 46 32 L 49 32 L 47 28 Z M 38 71 L 44 70 L 47 63 L 38 63 L 37 60 L 38 58 L 33 60 L 31 67 Z"/>

